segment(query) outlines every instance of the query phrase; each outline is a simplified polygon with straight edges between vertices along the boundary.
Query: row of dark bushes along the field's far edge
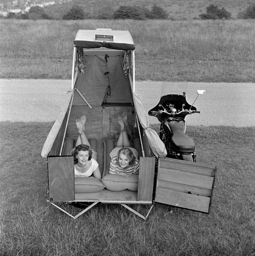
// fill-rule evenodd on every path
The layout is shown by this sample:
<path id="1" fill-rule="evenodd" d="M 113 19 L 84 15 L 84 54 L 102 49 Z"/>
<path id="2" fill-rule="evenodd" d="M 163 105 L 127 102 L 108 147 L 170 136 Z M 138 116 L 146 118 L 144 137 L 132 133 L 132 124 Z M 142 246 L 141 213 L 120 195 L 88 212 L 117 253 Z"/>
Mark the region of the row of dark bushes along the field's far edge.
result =
<path id="1" fill-rule="evenodd" d="M 40 6 L 32 6 L 28 12 L 13 13 L 9 12 L 5 18 L 16 18 L 16 19 L 54 19 L 47 15 L 44 9 Z M 94 19 L 133 19 L 133 20 L 148 20 L 148 19 L 159 19 L 166 20 L 172 19 L 169 17 L 166 10 L 162 7 L 154 4 L 149 10 L 148 8 L 141 6 L 120 6 L 115 12 L 111 13 L 109 10 L 101 12 L 96 17 L 91 17 L 89 13 L 84 12 L 81 6 L 74 5 L 70 10 L 63 15 L 63 20 L 83 20 L 88 18 Z M 217 5 L 210 4 L 206 8 L 206 12 L 199 15 L 202 20 L 217 20 L 217 19 L 231 19 L 231 13 L 228 12 L 224 7 L 219 8 Z M 237 15 L 240 19 L 255 19 L 255 4 L 248 6 L 243 12 Z"/>

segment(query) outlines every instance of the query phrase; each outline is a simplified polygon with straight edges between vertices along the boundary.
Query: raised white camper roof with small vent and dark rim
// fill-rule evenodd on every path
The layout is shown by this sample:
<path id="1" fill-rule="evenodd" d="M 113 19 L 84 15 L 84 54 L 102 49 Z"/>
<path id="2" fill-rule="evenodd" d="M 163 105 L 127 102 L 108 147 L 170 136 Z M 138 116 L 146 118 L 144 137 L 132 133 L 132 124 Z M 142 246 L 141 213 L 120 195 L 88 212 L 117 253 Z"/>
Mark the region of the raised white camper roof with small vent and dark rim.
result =
<path id="1" fill-rule="evenodd" d="M 105 38 L 104 38 L 105 36 Z M 74 46 L 82 48 L 106 47 L 117 50 L 134 50 L 134 42 L 128 30 L 78 30 Z"/>

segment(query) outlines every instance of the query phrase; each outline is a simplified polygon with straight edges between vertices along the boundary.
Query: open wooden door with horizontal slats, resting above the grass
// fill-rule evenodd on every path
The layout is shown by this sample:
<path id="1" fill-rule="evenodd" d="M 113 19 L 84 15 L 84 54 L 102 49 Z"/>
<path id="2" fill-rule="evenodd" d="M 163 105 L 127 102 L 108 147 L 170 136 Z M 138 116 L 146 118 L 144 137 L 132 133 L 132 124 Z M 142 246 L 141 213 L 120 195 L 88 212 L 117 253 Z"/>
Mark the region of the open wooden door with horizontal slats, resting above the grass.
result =
<path id="1" fill-rule="evenodd" d="M 159 158 L 155 202 L 209 213 L 216 167 Z"/>

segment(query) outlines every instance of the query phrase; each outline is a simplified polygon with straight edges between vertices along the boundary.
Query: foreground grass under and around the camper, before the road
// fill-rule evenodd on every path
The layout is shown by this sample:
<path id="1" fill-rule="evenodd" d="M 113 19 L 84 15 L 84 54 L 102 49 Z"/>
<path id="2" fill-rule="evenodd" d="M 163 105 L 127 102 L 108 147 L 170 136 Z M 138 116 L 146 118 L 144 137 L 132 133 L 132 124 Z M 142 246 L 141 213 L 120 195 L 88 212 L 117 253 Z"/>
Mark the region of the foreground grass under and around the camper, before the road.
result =
<path id="1" fill-rule="evenodd" d="M 40 152 L 52 123 L 0 126 L 1 256 L 255 255 L 255 128 L 190 127 L 198 162 L 217 165 L 211 213 L 156 204 L 144 221 L 119 205 L 98 204 L 77 220 L 51 206 Z"/>

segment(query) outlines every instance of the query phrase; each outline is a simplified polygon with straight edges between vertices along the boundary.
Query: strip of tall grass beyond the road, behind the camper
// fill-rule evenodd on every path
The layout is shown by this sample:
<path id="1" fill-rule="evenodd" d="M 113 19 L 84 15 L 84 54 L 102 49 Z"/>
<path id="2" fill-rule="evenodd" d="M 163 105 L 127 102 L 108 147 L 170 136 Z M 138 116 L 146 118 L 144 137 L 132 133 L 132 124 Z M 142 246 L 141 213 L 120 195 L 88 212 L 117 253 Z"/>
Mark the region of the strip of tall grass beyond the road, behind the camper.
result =
<path id="1" fill-rule="evenodd" d="M 79 29 L 129 30 L 136 80 L 255 82 L 253 20 L 0 20 L 1 78 L 71 78 Z"/>

